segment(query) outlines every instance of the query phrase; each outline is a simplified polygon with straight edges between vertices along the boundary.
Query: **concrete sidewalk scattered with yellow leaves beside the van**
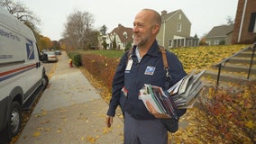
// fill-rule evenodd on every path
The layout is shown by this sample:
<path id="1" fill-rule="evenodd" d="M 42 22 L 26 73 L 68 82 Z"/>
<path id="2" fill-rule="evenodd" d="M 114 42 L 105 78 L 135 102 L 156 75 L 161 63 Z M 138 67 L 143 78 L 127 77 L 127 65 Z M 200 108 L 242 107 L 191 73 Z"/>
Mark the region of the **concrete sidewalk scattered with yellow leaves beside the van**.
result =
<path id="1" fill-rule="evenodd" d="M 123 121 L 105 127 L 108 105 L 62 52 L 48 88 L 15 144 L 122 144 Z"/>

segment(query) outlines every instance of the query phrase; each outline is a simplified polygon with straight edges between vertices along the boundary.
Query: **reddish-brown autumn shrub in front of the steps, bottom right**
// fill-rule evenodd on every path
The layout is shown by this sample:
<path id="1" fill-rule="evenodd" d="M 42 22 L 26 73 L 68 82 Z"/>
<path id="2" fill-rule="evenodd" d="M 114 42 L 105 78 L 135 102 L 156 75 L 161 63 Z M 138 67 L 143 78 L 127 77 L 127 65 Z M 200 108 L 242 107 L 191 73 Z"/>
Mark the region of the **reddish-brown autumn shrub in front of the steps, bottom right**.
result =
<path id="1" fill-rule="evenodd" d="M 255 143 L 256 116 L 252 114 L 256 112 L 255 85 L 256 82 L 248 84 L 238 94 L 215 88 L 203 94 L 197 107 L 189 112 L 192 128 L 184 131 L 190 132 L 189 142 Z"/>

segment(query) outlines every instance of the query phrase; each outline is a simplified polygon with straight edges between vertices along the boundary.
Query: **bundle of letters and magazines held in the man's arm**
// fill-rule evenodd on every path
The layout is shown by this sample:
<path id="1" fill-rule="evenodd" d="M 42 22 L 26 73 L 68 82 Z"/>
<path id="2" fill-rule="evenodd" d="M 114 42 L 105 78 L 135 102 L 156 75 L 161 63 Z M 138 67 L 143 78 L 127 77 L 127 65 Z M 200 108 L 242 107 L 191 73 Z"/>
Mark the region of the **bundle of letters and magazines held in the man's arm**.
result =
<path id="1" fill-rule="evenodd" d="M 159 86 L 145 84 L 140 90 L 139 98 L 146 107 L 148 101 L 157 112 L 177 117 L 175 109 L 191 108 L 197 101 L 197 95 L 203 87 L 203 83 L 199 79 L 204 72 L 205 70 L 196 74 L 196 70 L 193 70 L 172 85 L 167 92 L 164 92 Z"/>

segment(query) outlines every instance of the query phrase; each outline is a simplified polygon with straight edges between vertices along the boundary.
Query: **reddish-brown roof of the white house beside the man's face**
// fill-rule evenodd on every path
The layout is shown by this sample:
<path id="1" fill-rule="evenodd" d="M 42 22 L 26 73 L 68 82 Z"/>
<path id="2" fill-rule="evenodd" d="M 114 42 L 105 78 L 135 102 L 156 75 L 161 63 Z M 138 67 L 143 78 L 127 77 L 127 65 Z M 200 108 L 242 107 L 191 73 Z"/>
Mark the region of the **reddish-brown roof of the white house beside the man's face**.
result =
<path id="1" fill-rule="evenodd" d="M 110 32 L 110 34 L 117 34 L 121 40 L 121 42 L 133 42 L 133 29 L 132 28 L 126 28 L 122 24 L 118 24 L 118 27 L 114 28 L 113 31 Z M 125 34 L 126 33 L 126 34 Z"/>

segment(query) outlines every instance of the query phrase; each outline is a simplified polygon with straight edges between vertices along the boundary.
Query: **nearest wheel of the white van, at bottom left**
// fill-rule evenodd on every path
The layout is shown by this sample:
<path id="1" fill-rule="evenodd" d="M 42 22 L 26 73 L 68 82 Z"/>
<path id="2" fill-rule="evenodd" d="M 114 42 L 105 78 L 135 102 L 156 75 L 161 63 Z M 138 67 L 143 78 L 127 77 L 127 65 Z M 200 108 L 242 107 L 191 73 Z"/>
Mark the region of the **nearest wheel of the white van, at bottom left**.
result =
<path id="1" fill-rule="evenodd" d="M 11 111 L 8 113 L 5 135 L 7 139 L 12 139 L 21 129 L 22 125 L 22 106 L 18 102 L 11 105 Z"/>

